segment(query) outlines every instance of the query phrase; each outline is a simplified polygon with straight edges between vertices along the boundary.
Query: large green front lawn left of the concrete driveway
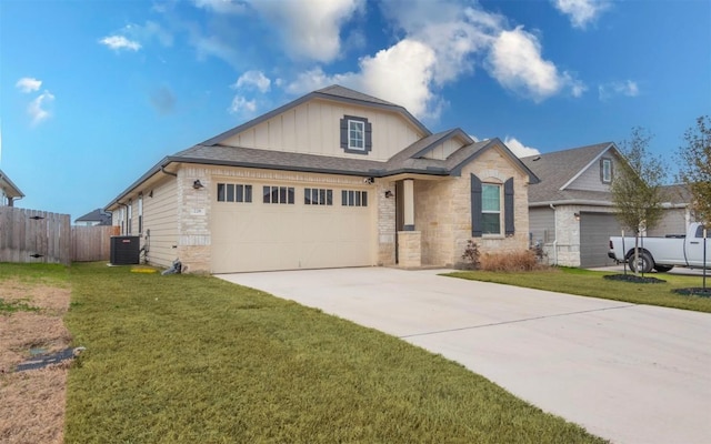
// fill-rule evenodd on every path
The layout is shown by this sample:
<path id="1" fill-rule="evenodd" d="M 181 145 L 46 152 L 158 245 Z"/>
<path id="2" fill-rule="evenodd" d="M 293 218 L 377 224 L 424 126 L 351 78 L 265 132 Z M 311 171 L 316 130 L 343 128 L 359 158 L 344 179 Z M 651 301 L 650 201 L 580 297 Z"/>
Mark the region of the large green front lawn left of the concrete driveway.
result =
<path id="1" fill-rule="evenodd" d="M 214 278 L 74 264 L 66 443 L 599 443 L 463 366 Z"/>

